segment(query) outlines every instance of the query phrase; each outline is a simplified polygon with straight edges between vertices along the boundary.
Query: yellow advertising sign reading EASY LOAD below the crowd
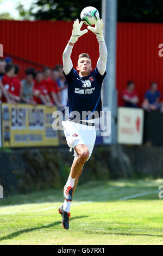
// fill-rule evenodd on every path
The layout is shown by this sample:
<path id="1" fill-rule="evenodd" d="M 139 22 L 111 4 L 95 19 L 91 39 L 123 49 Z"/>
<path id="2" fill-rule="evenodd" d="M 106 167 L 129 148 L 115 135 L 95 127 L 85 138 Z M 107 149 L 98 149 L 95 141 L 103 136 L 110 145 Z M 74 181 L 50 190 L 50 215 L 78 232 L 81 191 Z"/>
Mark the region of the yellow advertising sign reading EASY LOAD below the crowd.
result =
<path id="1" fill-rule="evenodd" d="M 2 103 L 2 147 L 57 146 L 58 131 L 52 128 L 56 107 Z"/>

